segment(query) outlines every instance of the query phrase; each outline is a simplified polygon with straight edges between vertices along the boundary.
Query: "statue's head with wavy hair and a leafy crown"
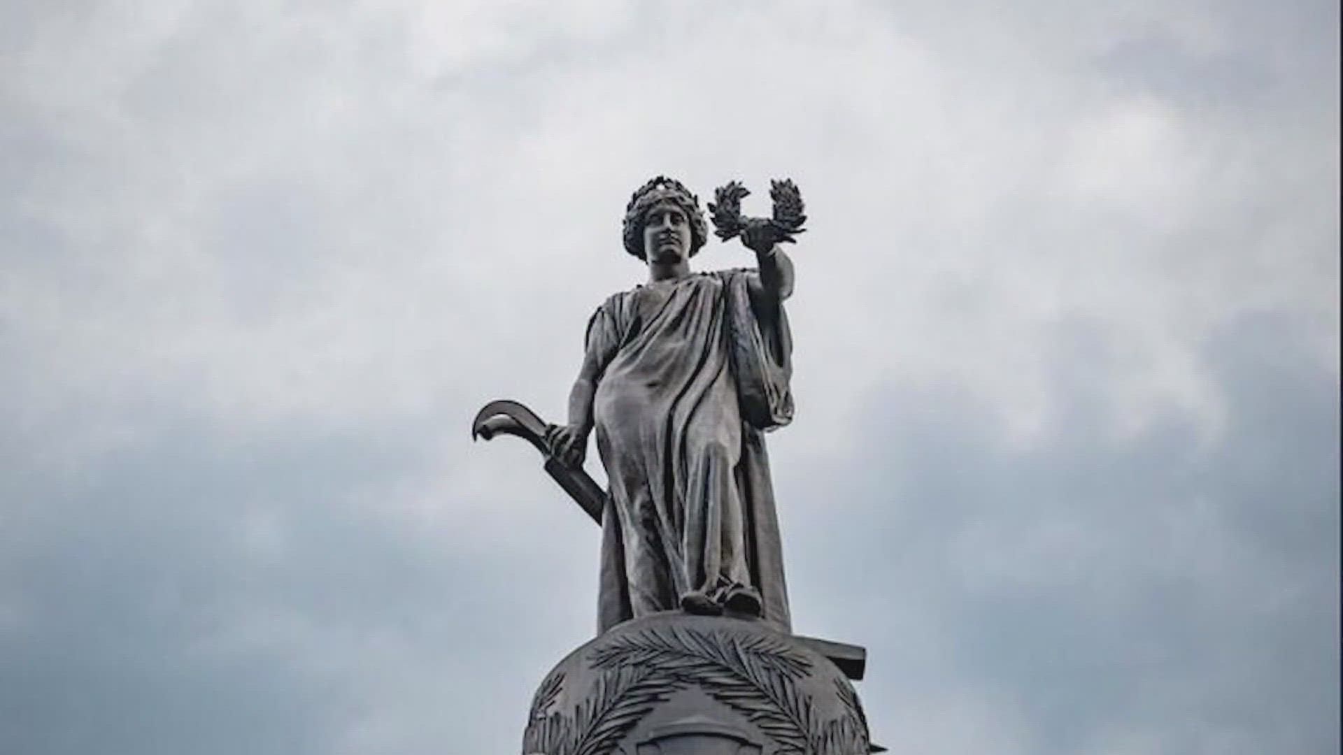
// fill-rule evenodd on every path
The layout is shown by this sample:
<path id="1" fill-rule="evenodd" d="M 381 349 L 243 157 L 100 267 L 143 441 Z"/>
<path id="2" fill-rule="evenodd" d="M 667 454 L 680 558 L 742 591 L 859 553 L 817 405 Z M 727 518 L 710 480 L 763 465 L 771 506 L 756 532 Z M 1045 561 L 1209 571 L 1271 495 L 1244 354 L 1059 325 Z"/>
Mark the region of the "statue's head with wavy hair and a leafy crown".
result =
<path id="1" fill-rule="evenodd" d="M 654 236 L 651 240 L 647 238 L 650 234 Z M 651 249 L 654 259 L 663 257 L 658 261 L 674 262 L 666 258 L 673 254 L 673 243 L 678 246 L 676 255 L 690 258 L 708 238 L 709 226 L 700 210 L 700 199 L 676 179 L 658 176 L 650 180 L 634 192 L 624 207 L 624 251 L 639 259 L 647 261 Z"/>

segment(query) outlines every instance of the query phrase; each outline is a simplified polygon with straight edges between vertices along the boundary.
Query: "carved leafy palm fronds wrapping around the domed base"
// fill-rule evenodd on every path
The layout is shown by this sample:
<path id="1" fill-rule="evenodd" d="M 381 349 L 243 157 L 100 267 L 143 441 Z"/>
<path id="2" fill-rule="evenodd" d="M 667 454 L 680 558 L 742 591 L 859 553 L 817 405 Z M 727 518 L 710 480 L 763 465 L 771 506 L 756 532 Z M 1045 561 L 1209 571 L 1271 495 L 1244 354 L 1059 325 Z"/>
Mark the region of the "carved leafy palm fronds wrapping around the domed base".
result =
<path id="1" fill-rule="evenodd" d="M 813 664 L 782 638 L 662 626 L 615 637 L 590 660 L 599 672 L 596 685 L 572 713 L 555 711 L 564 674 L 543 682 L 525 754 L 607 755 L 654 707 L 686 686 L 743 715 L 775 742 L 778 755 L 868 752 L 866 719 L 853 688 L 834 680 L 846 711 L 822 720 L 799 684 Z"/>

